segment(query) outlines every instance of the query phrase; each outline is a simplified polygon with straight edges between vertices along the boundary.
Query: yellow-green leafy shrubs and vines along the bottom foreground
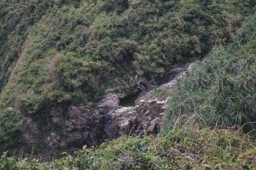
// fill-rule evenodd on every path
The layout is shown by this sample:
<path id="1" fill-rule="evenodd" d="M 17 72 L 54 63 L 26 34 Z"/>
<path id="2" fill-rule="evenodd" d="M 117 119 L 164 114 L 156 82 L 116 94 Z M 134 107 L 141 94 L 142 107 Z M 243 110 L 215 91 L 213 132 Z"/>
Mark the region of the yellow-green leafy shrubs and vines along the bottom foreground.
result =
<path id="1" fill-rule="evenodd" d="M 3 155 L 0 169 L 253 169 L 256 144 L 240 133 L 175 128 L 160 138 L 123 136 L 96 149 L 84 146 L 53 163 Z"/>

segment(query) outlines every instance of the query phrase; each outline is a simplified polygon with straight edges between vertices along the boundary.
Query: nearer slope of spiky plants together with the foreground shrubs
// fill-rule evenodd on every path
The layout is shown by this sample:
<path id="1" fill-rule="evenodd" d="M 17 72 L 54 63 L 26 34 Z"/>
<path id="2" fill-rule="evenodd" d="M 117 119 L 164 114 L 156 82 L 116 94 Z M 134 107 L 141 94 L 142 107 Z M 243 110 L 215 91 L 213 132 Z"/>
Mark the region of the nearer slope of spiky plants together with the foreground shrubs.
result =
<path id="1" fill-rule="evenodd" d="M 5 153 L 0 165 L 5 169 L 255 169 L 256 144 L 252 140 L 255 132 L 244 134 L 247 128 L 255 130 L 255 126 L 247 126 L 245 130 L 243 126 L 226 127 L 249 123 L 253 120 L 245 117 L 251 118 L 252 114 L 255 118 L 255 36 L 256 15 L 243 26 L 230 46 L 217 46 L 183 75 L 176 85 L 178 93 L 170 99 L 166 112 L 166 133 L 162 136 L 123 136 L 104 142 L 98 148 L 85 145 L 75 155 L 63 153 L 62 159 L 51 163 L 39 163 L 36 159 L 17 162 Z M 220 78 L 225 78 L 226 74 L 228 85 L 220 83 Z M 232 93 L 228 93 L 230 89 Z M 214 90 L 220 93 L 214 93 Z M 207 94 L 201 95 L 205 91 Z M 167 89 L 164 92 L 170 91 Z M 223 107 L 211 106 L 210 101 L 218 101 L 220 94 Z M 241 102 L 244 99 L 247 103 Z M 240 112 L 234 112 L 236 107 L 227 107 L 227 101 L 241 103 L 238 105 Z M 204 106 L 206 104 L 207 107 Z M 218 112 L 212 109 L 214 106 L 219 108 Z M 199 108 L 210 108 L 210 113 L 201 112 Z M 245 116 L 235 116 L 241 113 Z M 227 117 L 227 114 L 230 116 Z M 205 121 L 198 119 L 200 116 Z M 219 124 L 222 127 L 216 128 Z"/>

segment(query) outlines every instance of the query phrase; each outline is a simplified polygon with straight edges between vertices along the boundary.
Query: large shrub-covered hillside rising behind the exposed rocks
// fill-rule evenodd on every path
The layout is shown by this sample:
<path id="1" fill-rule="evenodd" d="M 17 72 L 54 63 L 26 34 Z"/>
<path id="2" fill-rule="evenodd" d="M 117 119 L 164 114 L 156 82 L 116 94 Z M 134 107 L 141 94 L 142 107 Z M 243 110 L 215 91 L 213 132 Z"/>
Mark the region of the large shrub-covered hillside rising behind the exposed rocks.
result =
<path id="1" fill-rule="evenodd" d="M 43 148 L 61 129 L 54 114 L 93 108 L 110 87 L 137 93 L 136 76 L 154 82 L 230 42 L 254 10 L 249 0 L 1 1 L 0 150 Z"/>

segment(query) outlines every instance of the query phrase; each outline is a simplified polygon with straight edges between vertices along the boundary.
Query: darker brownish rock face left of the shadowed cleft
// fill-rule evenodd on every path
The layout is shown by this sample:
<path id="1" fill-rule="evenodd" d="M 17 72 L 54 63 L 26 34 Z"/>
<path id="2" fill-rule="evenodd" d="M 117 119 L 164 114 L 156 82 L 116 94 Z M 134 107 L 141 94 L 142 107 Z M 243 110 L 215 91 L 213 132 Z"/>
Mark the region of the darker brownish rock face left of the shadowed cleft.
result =
<path id="1" fill-rule="evenodd" d="M 108 97 L 111 96 L 108 95 Z M 105 101 L 109 102 L 109 100 Z M 102 107 L 107 110 L 110 106 L 109 103 L 102 103 Z M 56 144 L 61 148 L 68 148 L 69 146 L 80 147 L 84 144 L 92 146 L 101 142 L 103 119 L 98 112 L 92 112 L 90 108 L 80 105 L 79 107 L 70 107 L 66 116 L 67 118 L 61 120 L 61 122 L 64 121 L 59 132 L 61 138 L 59 136 L 53 136 L 53 133 L 49 134 L 44 140 L 47 147 L 56 147 Z M 55 119 L 53 117 L 53 122 Z M 59 142 L 56 142 L 58 140 Z"/>

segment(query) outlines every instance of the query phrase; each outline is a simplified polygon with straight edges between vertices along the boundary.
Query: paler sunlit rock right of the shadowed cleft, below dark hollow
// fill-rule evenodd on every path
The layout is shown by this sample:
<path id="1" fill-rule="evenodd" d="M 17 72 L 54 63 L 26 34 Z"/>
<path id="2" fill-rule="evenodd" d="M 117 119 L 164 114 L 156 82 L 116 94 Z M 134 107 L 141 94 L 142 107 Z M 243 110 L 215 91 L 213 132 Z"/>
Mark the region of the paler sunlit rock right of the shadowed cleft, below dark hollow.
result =
<path id="1" fill-rule="evenodd" d="M 189 65 L 188 71 L 193 64 Z M 138 76 L 137 85 L 141 86 L 141 94 L 135 101 L 134 107 L 112 108 L 104 114 L 105 138 L 116 138 L 122 135 L 138 135 L 147 132 L 148 134 L 158 134 L 162 124 L 162 118 L 170 100 L 168 91 L 175 90 L 177 79 L 185 75 L 184 68 L 172 69 L 168 73 L 165 83 L 162 83 L 156 90 L 146 90 L 143 83 L 148 83 L 146 79 Z M 162 81 L 162 82 L 163 82 Z M 158 96 L 156 91 L 163 91 L 164 95 Z M 165 94 L 167 93 L 167 95 Z"/>

